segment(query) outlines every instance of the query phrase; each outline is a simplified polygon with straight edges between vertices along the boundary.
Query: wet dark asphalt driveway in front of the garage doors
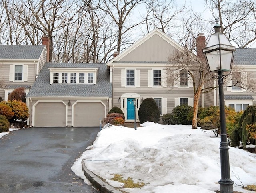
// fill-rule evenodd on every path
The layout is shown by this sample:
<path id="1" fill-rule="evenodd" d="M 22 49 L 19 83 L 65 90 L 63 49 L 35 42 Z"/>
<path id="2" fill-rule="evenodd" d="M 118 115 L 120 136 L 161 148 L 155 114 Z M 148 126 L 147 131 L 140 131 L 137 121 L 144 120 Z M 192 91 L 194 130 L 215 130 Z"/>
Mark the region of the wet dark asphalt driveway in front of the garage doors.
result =
<path id="1" fill-rule="evenodd" d="M 27 128 L 0 139 L 1 193 L 96 193 L 70 169 L 99 128 Z"/>

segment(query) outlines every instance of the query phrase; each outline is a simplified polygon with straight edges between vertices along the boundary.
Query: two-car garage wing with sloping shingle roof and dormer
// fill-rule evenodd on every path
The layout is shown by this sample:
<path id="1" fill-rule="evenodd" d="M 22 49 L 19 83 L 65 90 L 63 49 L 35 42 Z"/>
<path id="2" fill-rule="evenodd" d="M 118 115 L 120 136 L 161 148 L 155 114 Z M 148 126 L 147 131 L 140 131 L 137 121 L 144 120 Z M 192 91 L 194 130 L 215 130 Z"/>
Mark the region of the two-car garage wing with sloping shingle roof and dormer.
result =
<path id="1" fill-rule="evenodd" d="M 26 98 L 30 126 L 100 126 L 112 83 L 103 63 L 45 63 Z"/>

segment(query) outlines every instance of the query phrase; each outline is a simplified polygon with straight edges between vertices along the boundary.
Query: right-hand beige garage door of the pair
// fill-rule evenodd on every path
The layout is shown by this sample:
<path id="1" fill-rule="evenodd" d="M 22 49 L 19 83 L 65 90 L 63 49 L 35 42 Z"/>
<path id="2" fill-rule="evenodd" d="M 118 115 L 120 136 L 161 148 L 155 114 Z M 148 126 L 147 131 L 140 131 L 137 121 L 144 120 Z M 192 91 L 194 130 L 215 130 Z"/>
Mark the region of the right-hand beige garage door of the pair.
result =
<path id="1" fill-rule="evenodd" d="M 100 102 L 78 102 L 74 106 L 74 127 L 98 127 L 104 117 L 105 108 Z"/>

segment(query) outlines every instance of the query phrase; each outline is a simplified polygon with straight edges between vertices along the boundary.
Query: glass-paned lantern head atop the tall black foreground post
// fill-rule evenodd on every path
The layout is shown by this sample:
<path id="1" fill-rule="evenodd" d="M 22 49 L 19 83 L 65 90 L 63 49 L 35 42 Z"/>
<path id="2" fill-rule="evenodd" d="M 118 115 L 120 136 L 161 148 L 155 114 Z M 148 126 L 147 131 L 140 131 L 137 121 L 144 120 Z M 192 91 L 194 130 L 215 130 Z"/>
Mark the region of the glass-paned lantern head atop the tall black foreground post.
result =
<path id="1" fill-rule="evenodd" d="M 203 49 L 210 72 L 231 71 L 235 47 L 226 35 L 220 32 L 220 24 L 216 20 L 215 33 L 211 35 L 206 48 Z"/>

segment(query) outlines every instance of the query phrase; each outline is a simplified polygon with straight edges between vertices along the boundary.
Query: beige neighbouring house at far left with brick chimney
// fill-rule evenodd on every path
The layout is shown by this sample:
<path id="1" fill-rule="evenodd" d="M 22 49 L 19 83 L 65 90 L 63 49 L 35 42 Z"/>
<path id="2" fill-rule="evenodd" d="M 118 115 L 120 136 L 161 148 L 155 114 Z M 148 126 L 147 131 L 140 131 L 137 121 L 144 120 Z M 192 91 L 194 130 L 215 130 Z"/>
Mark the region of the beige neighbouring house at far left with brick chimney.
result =
<path id="1" fill-rule="evenodd" d="M 43 45 L 0 45 L 0 88 L 2 100 L 18 87 L 24 87 L 26 94 L 34 84 L 40 70 L 47 61 L 47 38 Z"/>

